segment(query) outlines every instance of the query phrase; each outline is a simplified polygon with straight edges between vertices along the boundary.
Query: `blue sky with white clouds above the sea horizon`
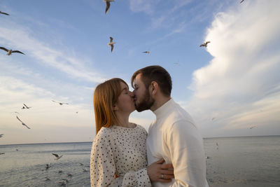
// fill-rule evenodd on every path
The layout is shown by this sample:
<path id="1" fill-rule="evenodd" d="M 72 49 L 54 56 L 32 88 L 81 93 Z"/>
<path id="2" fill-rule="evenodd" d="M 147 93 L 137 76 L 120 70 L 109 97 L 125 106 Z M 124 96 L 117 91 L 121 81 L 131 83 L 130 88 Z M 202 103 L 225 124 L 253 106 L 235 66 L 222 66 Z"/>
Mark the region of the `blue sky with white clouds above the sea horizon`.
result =
<path id="1" fill-rule="evenodd" d="M 0 46 L 25 53 L 0 50 L 0 144 L 92 141 L 94 88 L 114 77 L 130 85 L 155 64 L 202 137 L 280 135 L 279 0 L 116 0 L 107 15 L 105 6 L 0 2 L 10 14 L 0 14 Z M 154 119 L 130 116 L 146 130 Z"/>

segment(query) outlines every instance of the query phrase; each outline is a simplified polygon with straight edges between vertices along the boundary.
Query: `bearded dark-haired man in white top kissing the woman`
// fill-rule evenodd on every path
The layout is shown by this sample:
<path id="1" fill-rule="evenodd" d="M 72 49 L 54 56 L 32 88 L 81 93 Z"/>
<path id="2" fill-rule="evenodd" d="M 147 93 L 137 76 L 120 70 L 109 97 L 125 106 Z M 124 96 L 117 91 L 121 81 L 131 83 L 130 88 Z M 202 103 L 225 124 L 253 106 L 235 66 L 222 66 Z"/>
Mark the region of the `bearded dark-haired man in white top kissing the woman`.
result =
<path id="1" fill-rule="evenodd" d="M 202 137 L 190 115 L 170 97 L 169 73 L 160 66 L 144 67 L 133 74 L 131 83 L 137 111 L 150 109 L 156 116 L 148 130 L 148 165 L 164 158 L 174 167 L 171 182 L 153 186 L 208 186 Z"/>

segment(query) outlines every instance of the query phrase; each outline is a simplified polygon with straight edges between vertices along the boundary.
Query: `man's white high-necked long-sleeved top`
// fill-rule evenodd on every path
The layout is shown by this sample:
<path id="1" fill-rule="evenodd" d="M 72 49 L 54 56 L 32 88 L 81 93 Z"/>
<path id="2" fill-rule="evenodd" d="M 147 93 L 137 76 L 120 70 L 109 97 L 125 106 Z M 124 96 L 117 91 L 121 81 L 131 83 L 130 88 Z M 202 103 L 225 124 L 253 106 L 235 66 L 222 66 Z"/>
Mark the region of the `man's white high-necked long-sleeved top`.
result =
<path id="1" fill-rule="evenodd" d="M 163 186 L 208 186 L 203 140 L 190 115 L 170 99 L 153 111 L 156 119 L 148 130 L 148 165 L 164 158 L 174 167 L 175 179 Z"/>

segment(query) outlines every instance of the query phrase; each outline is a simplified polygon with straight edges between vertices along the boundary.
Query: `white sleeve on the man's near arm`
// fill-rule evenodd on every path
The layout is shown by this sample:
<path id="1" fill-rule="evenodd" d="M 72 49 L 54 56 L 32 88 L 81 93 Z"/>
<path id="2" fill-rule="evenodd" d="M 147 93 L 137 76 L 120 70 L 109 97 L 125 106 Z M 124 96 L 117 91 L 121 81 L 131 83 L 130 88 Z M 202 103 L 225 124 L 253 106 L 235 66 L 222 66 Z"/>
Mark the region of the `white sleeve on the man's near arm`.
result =
<path id="1" fill-rule="evenodd" d="M 172 186 L 208 186 L 203 141 L 195 125 L 187 120 L 174 123 L 166 142 L 174 167 Z"/>

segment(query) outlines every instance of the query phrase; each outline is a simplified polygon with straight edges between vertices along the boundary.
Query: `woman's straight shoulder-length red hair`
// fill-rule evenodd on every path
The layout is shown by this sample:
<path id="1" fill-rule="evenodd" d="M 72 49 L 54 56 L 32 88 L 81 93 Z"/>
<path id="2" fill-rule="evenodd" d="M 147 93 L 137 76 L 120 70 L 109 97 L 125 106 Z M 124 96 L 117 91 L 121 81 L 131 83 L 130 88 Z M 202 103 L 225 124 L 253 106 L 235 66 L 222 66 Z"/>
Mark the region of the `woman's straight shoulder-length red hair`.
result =
<path id="1" fill-rule="evenodd" d="M 93 95 L 96 134 L 102 127 L 111 127 L 118 123 L 118 118 L 113 111 L 113 106 L 118 101 L 121 93 L 121 78 L 111 78 L 97 85 Z M 125 83 L 127 85 L 127 83 Z"/>

